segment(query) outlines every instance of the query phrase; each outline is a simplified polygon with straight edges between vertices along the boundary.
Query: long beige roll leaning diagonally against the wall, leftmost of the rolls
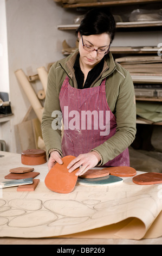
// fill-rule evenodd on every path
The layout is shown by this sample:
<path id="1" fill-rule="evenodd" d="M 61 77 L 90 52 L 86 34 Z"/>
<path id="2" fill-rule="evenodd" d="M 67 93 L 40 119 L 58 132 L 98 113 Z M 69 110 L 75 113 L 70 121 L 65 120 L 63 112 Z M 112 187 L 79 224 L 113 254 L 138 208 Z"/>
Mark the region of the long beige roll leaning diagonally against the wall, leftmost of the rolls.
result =
<path id="1" fill-rule="evenodd" d="M 42 121 L 42 113 L 43 113 L 43 108 L 42 105 L 40 103 L 40 101 L 38 100 L 33 87 L 31 86 L 30 82 L 28 81 L 27 76 L 24 74 L 22 69 L 18 69 L 15 71 L 15 75 L 18 79 L 18 81 L 20 82 L 21 86 L 24 89 L 25 94 L 28 97 L 28 100 L 31 103 L 31 106 L 34 109 L 34 112 L 36 113 L 38 119 L 40 120 L 40 122 Z"/>

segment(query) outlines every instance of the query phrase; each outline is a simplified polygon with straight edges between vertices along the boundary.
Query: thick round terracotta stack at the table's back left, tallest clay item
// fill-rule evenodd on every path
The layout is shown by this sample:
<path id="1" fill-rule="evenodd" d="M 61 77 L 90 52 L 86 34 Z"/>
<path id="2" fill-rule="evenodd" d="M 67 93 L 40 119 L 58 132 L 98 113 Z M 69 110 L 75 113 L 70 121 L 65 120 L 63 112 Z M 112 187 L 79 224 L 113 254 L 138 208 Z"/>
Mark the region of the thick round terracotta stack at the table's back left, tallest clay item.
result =
<path id="1" fill-rule="evenodd" d="M 47 162 L 46 151 L 42 149 L 27 149 L 22 151 L 21 162 L 33 166 Z"/>

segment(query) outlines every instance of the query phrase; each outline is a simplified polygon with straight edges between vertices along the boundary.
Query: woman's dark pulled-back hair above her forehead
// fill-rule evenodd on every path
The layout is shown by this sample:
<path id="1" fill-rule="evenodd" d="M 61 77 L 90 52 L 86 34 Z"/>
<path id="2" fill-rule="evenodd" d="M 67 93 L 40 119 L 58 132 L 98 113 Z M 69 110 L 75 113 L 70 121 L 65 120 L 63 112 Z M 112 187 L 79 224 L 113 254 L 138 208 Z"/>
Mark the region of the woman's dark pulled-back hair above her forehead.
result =
<path id="1" fill-rule="evenodd" d="M 89 10 L 80 26 L 76 29 L 76 34 L 80 32 L 82 35 L 99 35 L 102 33 L 107 33 L 111 42 L 115 35 L 115 20 L 113 15 L 104 9 L 92 9 Z"/>

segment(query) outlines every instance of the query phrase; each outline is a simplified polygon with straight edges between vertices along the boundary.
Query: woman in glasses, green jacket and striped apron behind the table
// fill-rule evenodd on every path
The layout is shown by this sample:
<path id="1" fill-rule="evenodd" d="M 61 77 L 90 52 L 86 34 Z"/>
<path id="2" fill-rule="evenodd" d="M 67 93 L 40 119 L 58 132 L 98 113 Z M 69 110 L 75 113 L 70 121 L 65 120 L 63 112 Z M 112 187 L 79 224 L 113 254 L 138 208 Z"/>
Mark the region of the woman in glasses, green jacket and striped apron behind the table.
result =
<path id="1" fill-rule="evenodd" d="M 68 165 L 69 172 L 80 167 L 76 175 L 95 166 L 129 166 L 128 146 L 136 132 L 134 87 L 109 52 L 114 33 L 110 13 L 88 11 L 76 31 L 79 50 L 49 71 L 42 118 L 49 170 L 66 155 L 76 156 Z"/>

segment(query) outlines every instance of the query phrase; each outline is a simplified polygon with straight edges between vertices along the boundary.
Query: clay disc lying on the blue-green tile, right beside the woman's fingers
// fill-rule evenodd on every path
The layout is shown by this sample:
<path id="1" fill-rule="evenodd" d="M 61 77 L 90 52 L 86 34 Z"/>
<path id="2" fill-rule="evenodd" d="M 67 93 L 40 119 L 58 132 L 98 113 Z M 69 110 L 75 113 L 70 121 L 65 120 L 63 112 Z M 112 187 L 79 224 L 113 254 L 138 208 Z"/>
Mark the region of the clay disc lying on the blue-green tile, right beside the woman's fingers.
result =
<path id="1" fill-rule="evenodd" d="M 81 175 L 80 178 L 93 179 L 93 178 L 105 177 L 108 175 L 109 175 L 108 168 L 89 169 L 85 174 Z"/>

